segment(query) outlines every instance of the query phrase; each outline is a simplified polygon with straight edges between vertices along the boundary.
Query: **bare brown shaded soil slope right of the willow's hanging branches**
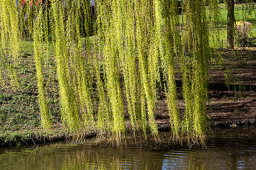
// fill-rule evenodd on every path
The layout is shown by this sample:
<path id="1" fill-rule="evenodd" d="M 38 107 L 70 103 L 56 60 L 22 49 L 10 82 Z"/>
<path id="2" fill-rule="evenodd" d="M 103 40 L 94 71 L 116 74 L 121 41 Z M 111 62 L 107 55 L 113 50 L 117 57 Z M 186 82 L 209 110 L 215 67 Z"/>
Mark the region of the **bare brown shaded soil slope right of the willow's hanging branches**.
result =
<path id="1" fill-rule="evenodd" d="M 222 56 L 222 72 L 210 70 L 208 116 L 212 121 L 256 119 L 256 51 L 228 51 Z"/>

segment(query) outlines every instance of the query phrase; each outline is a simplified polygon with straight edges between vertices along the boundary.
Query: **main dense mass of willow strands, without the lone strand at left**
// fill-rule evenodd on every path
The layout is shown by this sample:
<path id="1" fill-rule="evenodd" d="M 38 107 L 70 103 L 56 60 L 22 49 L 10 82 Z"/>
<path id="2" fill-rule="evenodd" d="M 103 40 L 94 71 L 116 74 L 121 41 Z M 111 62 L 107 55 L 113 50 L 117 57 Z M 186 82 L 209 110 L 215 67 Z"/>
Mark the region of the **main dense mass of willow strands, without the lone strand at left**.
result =
<path id="1" fill-rule="evenodd" d="M 81 21 L 84 25 L 88 23 L 80 17 L 85 14 L 81 10 L 84 4 L 74 1 L 64 6 L 59 2 L 53 5 L 62 113 L 70 129 L 77 132 L 94 125 L 90 72 L 86 69 L 91 66 L 92 58 L 88 51 L 84 55 L 81 44 L 84 35 Z M 133 133 L 146 135 L 149 129 L 157 138 L 156 83 L 163 69 L 174 137 L 181 139 L 185 132 L 189 143 L 204 141 L 210 56 L 209 20 L 206 7 L 201 5 L 205 1 L 183 3 L 186 13 L 183 30 L 179 29 L 175 0 L 98 0 L 96 4 L 99 55 L 94 55 L 94 68 L 99 99 L 95 124 L 98 131 L 103 134 L 111 129 L 111 138 L 120 143 L 126 133 L 124 102 L 127 102 Z M 178 109 L 177 63 L 183 77 L 184 121 Z"/>

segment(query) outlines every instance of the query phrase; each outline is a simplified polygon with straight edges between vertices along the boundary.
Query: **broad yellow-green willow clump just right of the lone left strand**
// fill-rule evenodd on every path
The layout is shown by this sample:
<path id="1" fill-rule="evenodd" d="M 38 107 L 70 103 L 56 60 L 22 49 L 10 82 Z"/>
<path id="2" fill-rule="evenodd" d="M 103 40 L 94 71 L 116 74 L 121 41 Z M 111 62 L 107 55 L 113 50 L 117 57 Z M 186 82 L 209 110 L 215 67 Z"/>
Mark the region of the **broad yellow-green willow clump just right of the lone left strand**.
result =
<path id="1" fill-rule="evenodd" d="M 81 3 L 80 0 L 52 3 L 62 118 L 74 135 L 94 128 L 90 56 L 86 55 L 88 51 L 82 51 L 83 31 L 88 33 L 88 5 L 87 1 Z"/>

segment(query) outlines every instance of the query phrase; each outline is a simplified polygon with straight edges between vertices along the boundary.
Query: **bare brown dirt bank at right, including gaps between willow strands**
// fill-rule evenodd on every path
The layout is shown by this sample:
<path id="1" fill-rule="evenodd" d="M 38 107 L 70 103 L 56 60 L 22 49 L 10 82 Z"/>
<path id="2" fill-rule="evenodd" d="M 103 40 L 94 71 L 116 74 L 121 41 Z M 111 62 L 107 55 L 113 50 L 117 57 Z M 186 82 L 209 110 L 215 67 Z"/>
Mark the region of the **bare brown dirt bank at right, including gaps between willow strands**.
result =
<path id="1" fill-rule="evenodd" d="M 209 64 L 209 93 L 206 114 L 211 123 L 226 123 L 256 120 L 256 51 L 218 51 Z M 179 81 L 179 80 L 178 80 Z M 180 115 L 184 112 L 182 83 L 178 83 Z M 169 124 L 169 115 L 164 98 L 156 104 L 158 126 Z"/>

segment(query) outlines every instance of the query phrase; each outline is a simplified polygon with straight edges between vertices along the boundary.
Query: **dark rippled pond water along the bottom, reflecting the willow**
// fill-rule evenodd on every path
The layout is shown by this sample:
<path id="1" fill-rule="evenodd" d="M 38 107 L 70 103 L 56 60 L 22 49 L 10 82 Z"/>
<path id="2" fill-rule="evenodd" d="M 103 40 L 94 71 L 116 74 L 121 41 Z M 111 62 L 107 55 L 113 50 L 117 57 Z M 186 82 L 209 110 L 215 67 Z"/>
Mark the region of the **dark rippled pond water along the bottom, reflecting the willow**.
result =
<path id="1" fill-rule="evenodd" d="M 165 133 L 166 135 L 167 133 Z M 166 135 L 168 136 L 168 135 Z M 93 140 L 0 148 L 3 170 L 249 170 L 256 169 L 256 130 L 214 131 L 207 149 L 137 143 L 117 149 Z"/>

